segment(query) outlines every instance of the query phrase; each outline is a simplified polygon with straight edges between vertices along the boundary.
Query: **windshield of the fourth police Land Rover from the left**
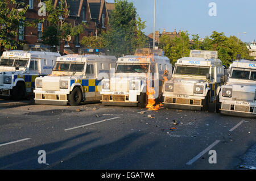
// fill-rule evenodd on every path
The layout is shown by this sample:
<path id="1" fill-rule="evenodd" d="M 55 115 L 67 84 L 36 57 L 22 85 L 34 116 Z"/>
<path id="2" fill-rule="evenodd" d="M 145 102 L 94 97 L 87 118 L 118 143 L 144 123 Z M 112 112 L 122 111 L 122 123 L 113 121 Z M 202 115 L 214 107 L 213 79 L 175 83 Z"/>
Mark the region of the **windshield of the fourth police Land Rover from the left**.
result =
<path id="1" fill-rule="evenodd" d="M 181 74 L 181 75 L 206 76 L 207 73 L 209 73 L 209 67 L 202 67 L 202 66 L 177 65 L 175 69 L 175 74 Z"/>

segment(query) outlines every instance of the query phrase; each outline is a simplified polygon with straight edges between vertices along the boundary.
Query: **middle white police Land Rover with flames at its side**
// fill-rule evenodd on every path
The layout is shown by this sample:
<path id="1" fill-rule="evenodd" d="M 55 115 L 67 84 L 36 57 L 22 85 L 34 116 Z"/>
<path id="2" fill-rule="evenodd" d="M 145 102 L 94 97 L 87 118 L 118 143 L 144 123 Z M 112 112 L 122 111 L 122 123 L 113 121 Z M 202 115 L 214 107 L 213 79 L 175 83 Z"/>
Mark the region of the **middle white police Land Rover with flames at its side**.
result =
<path id="1" fill-rule="evenodd" d="M 149 80 L 152 85 L 148 86 L 162 95 L 164 77 L 170 79 L 172 75 L 170 60 L 160 49 L 137 50 L 136 54 L 118 58 L 113 77 L 102 81 L 102 104 L 146 107 Z"/>

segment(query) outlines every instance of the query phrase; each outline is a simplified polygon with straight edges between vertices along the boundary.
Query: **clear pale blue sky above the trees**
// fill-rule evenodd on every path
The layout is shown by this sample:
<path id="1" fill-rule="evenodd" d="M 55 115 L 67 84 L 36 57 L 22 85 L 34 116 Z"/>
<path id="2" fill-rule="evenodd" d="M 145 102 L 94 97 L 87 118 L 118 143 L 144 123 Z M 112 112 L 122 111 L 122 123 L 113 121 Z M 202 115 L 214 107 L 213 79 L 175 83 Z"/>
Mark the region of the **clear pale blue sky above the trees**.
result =
<path id="1" fill-rule="evenodd" d="M 114 0 L 106 0 L 114 2 Z M 146 35 L 153 32 L 154 0 L 128 0 L 133 2 L 142 20 L 146 20 Z M 217 5 L 217 16 L 209 16 L 210 2 Z M 156 31 L 183 30 L 190 35 L 210 36 L 212 31 L 226 36 L 240 34 L 242 41 L 256 39 L 255 0 L 156 0 Z"/>

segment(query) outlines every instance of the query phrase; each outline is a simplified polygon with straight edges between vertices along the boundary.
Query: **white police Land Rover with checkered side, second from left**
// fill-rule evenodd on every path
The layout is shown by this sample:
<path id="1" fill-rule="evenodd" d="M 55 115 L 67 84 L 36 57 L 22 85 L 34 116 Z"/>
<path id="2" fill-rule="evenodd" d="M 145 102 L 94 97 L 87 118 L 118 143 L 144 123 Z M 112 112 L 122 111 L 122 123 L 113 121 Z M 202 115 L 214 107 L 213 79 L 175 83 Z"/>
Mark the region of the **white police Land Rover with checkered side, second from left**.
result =
<path id="1" fill-rule="evenodd" d="M 117 58 L 69 54 L 57 58 L 51 76 L 36 78 L 35 103 L 77 106 L 101 100 L 101 80 L 108 78 Z"/>

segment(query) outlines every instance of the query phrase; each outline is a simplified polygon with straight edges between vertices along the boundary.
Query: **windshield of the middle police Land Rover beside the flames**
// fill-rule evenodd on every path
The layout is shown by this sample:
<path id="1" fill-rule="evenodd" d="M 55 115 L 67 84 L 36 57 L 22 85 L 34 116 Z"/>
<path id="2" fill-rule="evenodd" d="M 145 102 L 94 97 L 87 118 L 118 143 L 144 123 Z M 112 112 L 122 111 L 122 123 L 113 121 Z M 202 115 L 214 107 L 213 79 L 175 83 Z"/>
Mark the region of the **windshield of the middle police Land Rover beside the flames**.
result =
<path id="1" fill-rule="evenodd" d="M 148 64 L 117 64 L 115 73 L 147 73 Z"/>

